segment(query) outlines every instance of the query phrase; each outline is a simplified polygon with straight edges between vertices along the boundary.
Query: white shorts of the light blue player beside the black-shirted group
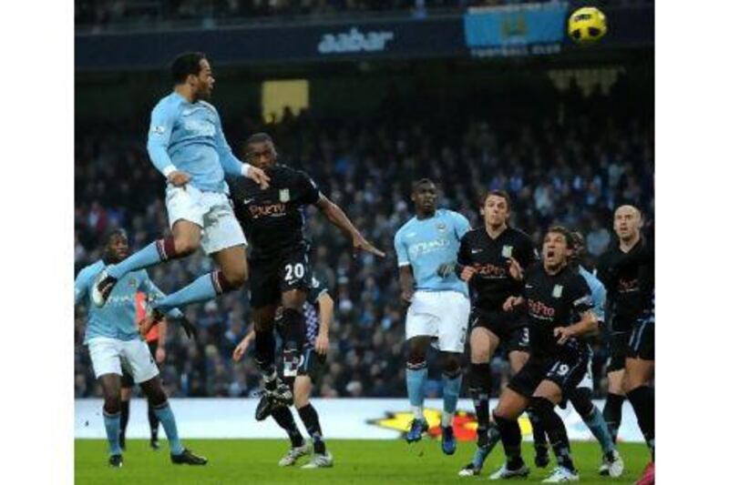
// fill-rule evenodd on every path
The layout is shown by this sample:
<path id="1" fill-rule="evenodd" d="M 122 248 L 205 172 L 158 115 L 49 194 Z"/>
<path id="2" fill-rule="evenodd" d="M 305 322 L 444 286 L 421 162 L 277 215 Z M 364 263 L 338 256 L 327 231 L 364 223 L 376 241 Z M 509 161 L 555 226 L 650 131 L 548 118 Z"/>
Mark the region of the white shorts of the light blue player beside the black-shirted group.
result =
<path id="1" fill-rule="evenodd" d="M 462 353 L 466 346 L 470 300 L 458 291 L 416 291 L 407 308 L 406 339 L 436 338 L 434 347 Z"/>

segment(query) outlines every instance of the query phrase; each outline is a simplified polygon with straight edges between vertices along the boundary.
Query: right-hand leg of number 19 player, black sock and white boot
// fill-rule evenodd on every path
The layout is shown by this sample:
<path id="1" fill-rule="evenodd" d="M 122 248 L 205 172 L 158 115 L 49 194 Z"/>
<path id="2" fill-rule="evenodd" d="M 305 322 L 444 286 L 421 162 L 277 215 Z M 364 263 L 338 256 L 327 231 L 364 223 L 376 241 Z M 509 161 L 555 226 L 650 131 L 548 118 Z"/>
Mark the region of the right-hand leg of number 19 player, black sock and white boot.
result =
<path id="1" fill-rule="evenodd" d="M 534 391 L 531 407 L 539 416 L 549 436 L 558 467 L 546 482 L 579 480 L 577 470 L 570 455 L 570 440 L 564 422 L 555 412 L 554 407 L 562 401 L 562 389 L 551 380 L 542 380 Z"/>

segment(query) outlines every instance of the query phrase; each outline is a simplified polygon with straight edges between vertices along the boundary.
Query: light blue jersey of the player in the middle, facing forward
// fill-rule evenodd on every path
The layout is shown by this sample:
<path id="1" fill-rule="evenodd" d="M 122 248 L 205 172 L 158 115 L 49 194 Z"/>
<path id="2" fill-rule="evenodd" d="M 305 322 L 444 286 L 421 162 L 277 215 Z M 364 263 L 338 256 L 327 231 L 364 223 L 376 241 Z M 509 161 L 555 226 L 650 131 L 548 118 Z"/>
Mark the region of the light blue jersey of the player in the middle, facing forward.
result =
<path id="1" fill-rule="evenodd" d="M 468 286 L 456 274 L 441 278 L 436 271 L 457 260 L 461 237 L 468 230 L 467 218 L 447 209 L 426 219 L 413 217 L 395 234 L 397 266 L 413 268 L 416 290 L 459 291 L 467 297 Z"/>

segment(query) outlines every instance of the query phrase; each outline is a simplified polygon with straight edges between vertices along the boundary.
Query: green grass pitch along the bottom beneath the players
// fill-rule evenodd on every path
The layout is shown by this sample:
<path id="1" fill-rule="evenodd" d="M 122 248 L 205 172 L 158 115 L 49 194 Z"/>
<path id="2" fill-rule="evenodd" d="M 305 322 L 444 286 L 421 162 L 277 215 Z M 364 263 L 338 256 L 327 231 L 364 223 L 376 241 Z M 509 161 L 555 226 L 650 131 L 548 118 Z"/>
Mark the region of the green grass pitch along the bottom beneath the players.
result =
<path id="1" fill-rule="evenodd" d="M 456 454 L 450 457 L 440 450 L 436 440 L 422 440 L 412 445 L 405 440 L 328 440 L 334 455 L 334 468 L 300 470 L 307 459 L 295 467 L 280 468 L 278 460 L 288 448 L 284 440 L 185 440 L 184 444 L 208 458 L 205 467 L 172 465 L 167 442 L 152 451 L 146 440 L 128 440 L 124 467 L 110 469 L 107 465 L 106 440 L 76 440 L 75 471 L 77 484 L 221 484 L 221 483 L 454 483 L 487 481 L 488 474 L 477 478 L 460 478 L 457 471 L 473 453 L 475 444 L 458 443 Z M 551 470 L 533 468 L 533 448 L 524 443 L 524 459 L 532 469 L 528 480 L 539 482 Z M 572 443 L 575 463 L 580 470 L 581 483 L 632 483 L 639 478 L 650 458 L 642 444 L 621 443 L 618 450 L 625 460 L 626 470 L 621 479 L 601 477 L 600 448 L 595 442 Z M 501 447 L 489 457 L 485 471 L 498 469 L 503 460 Z M 513 481 L 513 480 L 510 480 Z"/>

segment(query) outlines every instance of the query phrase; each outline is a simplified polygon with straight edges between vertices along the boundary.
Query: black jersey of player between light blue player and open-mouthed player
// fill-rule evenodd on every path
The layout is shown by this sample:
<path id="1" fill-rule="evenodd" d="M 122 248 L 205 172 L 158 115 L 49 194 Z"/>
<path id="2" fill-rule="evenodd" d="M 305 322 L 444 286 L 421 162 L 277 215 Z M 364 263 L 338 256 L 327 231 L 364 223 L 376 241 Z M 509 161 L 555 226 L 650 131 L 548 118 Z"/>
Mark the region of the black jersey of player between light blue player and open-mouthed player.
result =
<path id="1" fill-rule="evenodd" d="M 539 258 L 539 253 L 531 238 L 513 227 L 507 227 L 496 239 L 488 236 L 486 227 L 477 227 L 461 239 L 458 263 L 478 272 L 469 282 L 477 308 L 501 310 L 509 296 L 521 293 L 521 282 L 508 272 L 508 258 L 515 258 L 526 270 Z"/>

